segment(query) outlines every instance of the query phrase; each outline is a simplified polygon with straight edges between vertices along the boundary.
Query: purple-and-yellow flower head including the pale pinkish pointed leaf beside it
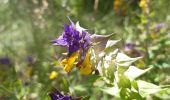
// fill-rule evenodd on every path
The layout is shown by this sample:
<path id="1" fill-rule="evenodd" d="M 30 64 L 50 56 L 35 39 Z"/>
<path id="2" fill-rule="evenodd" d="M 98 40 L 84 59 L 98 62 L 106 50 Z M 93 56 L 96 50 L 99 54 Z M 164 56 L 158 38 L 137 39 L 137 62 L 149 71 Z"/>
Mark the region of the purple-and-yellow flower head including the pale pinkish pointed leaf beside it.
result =
<path id="1" fill-rule="evenodd" d="M 67 58 L 61 61 L 66 72 L 70 72 L 74 63 L 78 58 L 76 66 L 80 69 L 80 73 L 87 75 L 92 72 L 91 47 L 93 46 L 95 53 L 104 50 L 108 39 L 113 35 L 90 35 L 86 29 L 80 27 L 79 22 L 74 24 L 70 20 L 70 25 L 64 26 L 62 35 L 53 40 L 53 45 L 65 47 L 68 51 Z"/>

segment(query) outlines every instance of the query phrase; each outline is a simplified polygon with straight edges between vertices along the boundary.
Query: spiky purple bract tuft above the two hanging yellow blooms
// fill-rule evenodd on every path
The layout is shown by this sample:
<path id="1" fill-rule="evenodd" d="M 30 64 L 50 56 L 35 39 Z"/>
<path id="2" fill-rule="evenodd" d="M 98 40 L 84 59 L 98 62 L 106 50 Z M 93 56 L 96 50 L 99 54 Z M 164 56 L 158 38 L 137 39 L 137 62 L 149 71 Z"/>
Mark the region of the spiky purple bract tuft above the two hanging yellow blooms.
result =
<path id="1" fill-rule="evenodd" d="M 63 34 L 58 39 L 52 41 L 53 45 L 66 47 L 68 56 L 81 50 L 80 56 L 84 58 L 84 55 L 90 47 L 90 35 L 84 28 L 79 26 L 78 22 L 76 25 L 71 20 L 70 22 L 70 25 L 64 25 Z"/>

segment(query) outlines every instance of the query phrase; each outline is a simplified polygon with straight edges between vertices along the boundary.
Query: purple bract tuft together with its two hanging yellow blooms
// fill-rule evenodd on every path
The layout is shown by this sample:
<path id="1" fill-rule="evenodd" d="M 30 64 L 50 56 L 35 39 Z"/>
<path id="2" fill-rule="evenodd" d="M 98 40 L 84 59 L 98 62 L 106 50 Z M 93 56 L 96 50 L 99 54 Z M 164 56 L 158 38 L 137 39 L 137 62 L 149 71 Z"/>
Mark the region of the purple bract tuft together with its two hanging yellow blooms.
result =
<path id="1" fill-rule="evenodd" d="M 66 24 L 64 26 L 62 35 L 58 39 L 52 41 L 53 45 L 63 46 L 68 51 L 67 58 L 61 61 L 66 72 L 71 71 L 74 62 L 79 57 L 80 61 L 77 66 L 80 68 L 82 74 L 90 74 L 92 72 L 89 60 L 89 50 L 91 45 L 90 34 L 86 31 L 86 29 L 80 27 L 79 22 L 76 24 L 74 24 L 71 20 L 70 22 L 70 25 Z"/>

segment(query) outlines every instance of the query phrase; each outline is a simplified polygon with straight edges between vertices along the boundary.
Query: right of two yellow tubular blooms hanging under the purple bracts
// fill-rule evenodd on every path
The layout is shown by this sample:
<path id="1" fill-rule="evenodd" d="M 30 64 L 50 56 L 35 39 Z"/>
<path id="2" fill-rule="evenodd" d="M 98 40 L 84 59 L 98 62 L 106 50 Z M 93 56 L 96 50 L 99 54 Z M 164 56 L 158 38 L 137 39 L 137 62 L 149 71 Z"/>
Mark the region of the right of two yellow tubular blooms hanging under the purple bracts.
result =
<path id="1" fill-rule="evenodd" d="M 80 73 L 88 75 L 92 72 L 92 65 L 90 63 L 90 50 L 88 50 L 83 63 L 80 65 Z"/>

